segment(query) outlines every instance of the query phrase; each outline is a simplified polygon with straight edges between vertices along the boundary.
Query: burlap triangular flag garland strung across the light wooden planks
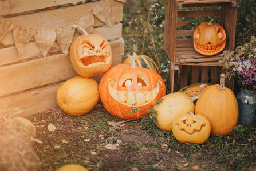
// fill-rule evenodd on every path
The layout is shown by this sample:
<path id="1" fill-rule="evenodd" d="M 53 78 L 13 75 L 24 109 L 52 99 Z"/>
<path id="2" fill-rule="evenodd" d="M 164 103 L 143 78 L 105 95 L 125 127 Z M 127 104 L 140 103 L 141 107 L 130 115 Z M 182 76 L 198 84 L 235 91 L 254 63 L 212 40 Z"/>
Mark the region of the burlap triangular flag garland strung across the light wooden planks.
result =
<path id="1" fill-rule="evenodd" d="M 43 56 L 48 54 L 48 51 L 53 46 L 55 40 L 59 44 L 64 55 L 68 55 L 68 49 L 72 42 L 75 29 L 73 25 L 78 25 L 90 33 L 93 31 L 94 17 L 103 21 L 111 27 L 111 0 L 101 0 L 95 5 L 89 13 L 80 17 L 76 22 L 56 29 L 33 29 L 14 25 L 7 19 L 0 17 L 0 42 L 10 32 L 13 32 L 15 46 L 17 47 L 19 58 L 21 58 L 25 45 L 31 38 L 34 37 L 38 48 Z M 125 3 L 126 0 L 116 0 Z"/>

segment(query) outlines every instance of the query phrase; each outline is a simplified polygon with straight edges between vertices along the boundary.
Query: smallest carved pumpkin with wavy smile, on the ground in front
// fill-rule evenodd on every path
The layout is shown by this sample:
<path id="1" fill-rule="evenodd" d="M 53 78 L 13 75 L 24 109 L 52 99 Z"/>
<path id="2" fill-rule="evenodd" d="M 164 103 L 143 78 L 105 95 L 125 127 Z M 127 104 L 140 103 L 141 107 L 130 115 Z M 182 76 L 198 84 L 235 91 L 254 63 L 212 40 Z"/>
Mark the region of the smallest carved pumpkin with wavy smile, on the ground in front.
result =
<path id="1" fill-rule="evenodd" d="M 203 144 L 211 133 L 211 125 L 203 115 L 188 112 L 175 118 L 172 133 L 181 143 Z"/>

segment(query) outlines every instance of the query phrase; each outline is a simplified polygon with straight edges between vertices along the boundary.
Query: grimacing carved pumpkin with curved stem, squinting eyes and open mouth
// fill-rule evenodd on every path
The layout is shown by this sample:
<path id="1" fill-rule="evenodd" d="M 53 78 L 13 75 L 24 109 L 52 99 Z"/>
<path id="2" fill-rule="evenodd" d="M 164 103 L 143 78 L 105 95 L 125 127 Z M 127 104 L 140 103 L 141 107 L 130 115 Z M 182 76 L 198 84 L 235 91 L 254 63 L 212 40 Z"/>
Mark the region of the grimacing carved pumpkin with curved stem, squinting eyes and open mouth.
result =
<path id="1" fill-rule="evenodd" d="M 98 34 L 87 34 L 81 27 L 74 27 L 84 34 L 76 38 L 70 47 L 74 70 L 85 78 L 107 72 L 112 64 L 112 50 L 108 40 Z"/>

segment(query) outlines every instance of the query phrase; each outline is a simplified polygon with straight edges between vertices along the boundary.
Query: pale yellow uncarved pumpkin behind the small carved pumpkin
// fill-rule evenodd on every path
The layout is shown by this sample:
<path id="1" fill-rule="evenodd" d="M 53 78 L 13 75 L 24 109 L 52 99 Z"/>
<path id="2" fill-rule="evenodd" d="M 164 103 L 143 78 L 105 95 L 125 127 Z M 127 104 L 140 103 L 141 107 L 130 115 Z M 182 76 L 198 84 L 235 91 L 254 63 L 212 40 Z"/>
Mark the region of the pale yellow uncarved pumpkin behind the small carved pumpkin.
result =
<path id="1" fill-rule="evenodd" d="M 155 124 L 163 131 L 172 131 L 172 123 L 175 117 L 195 110 L 194 103 L 185 93 L 170 93 L 162 99 L 162 102 L 155 105 L 153 109 L 157 111 L 157 122 Z"/>

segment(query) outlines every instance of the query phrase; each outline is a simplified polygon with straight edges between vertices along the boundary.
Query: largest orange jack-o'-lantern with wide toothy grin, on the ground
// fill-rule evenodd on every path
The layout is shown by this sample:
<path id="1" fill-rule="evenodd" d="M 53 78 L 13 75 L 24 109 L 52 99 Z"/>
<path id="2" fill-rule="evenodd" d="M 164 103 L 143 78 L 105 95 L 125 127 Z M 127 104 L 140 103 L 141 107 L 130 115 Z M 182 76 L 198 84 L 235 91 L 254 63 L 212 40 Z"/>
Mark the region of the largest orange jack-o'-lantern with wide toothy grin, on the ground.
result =
<path id="1" fill-rule="evenodd" d="M 118 64 L 108 70 L 100 80 L 99 93 L 105 109 L 111 115 L 137 120 L 145 116 L 157 100 L 166 95 L 166 86 L 159 74 L 132 63 Z M 129 115 L 135 105 L 138 110 Z"/>

